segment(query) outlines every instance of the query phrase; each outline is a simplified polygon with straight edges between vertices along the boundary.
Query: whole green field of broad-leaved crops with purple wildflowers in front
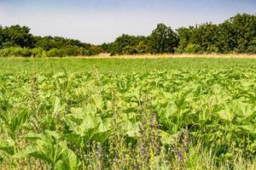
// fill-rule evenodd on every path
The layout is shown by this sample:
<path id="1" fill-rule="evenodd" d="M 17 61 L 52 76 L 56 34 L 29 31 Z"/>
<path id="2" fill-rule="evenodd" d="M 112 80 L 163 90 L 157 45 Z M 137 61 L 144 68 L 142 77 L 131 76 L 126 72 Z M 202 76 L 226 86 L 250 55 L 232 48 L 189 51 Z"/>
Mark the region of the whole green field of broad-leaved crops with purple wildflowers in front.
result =
<path id="1" fill-rule="evenodd" d="M 0 59 L 0 169 L 256 169 L 256 59 Z"/>

